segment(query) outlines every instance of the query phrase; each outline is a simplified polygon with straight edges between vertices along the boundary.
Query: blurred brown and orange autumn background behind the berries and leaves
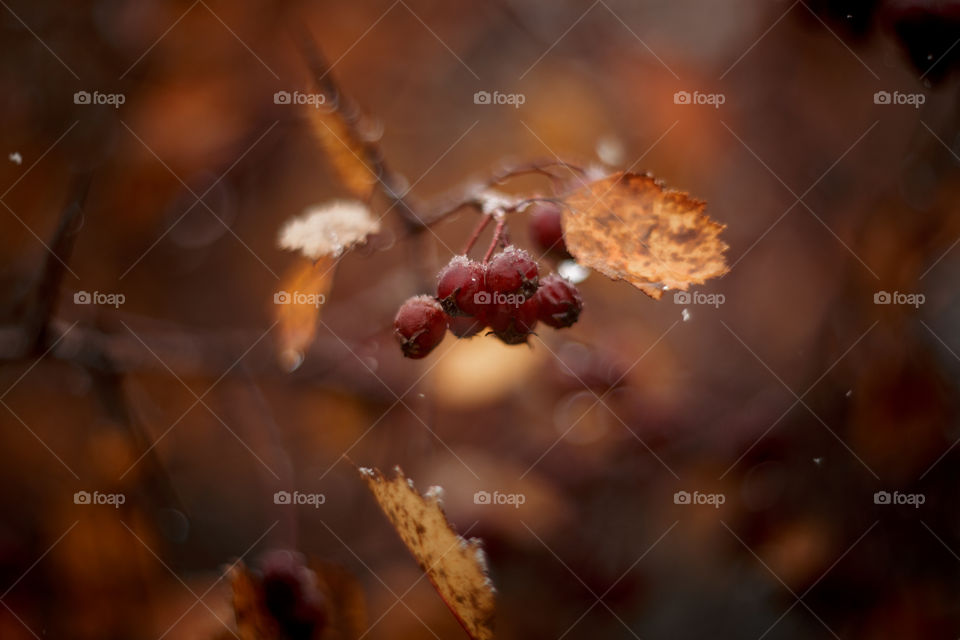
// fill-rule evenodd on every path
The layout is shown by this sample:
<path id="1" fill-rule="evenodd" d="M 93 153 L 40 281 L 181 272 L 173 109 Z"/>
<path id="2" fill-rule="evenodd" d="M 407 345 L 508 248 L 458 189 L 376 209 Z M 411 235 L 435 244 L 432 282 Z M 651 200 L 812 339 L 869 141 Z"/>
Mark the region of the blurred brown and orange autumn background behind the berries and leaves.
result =
<path id="1" fill-rule="evenodd" d="M 960 634 L 960 3 L 0 4 L 0 637 L 230 637 L 273 548 L 356 576 L 369 638 L 464 637 L 354 464 L 443 486 L 499 638 Z M 419 198 L 560 156 L 706 200 L 722 304 L 593 274 L 572 329 L 405 361 L 476 214 L 391 212 L 289 371 L 277 232 L 347 195 L 273 99 L 303 29 Z"/>

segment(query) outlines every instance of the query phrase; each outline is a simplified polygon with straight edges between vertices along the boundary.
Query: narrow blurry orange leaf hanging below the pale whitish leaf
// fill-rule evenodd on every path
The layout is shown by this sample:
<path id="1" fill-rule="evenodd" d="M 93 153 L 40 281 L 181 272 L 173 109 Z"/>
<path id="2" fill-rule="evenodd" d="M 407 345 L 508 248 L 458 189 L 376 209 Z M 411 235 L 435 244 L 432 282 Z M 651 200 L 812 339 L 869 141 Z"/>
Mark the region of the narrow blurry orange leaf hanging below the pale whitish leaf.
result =
<path id="1" fill-rule="evenodd" d="M 298 261 L 274 293 L 274 315 L 279 326 L 281 364 L 292 371 L 303 362 L 304 353 L 317 331 L 321 305 L 333 286 L 333 258 L 317 262 Z"/>

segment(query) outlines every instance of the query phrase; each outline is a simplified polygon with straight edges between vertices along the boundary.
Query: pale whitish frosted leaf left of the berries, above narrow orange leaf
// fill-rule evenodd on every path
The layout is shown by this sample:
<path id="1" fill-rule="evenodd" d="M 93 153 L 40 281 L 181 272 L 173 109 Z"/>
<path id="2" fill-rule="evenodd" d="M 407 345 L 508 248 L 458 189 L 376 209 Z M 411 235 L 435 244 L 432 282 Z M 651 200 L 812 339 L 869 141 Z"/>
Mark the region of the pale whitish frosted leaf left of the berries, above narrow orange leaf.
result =
<path id="1" fill-rule="evenodd" d="M 379 233 L 380 221 L 357 200 L 333 200 L 308 208 L 280 229 L 281 249 L 299 251 L 311 260 L 338 257 L 367 236 Z"/>

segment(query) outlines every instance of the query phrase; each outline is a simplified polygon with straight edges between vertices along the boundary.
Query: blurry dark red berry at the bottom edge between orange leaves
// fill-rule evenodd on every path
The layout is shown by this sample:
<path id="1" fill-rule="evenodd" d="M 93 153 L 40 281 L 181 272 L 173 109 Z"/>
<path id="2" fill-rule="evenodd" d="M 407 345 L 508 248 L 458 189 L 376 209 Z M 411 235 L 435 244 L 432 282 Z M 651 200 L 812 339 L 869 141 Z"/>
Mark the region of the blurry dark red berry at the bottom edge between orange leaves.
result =
<path id="1" fill-rule="evenodd" d="M 260 561 L 263 606 L 276 621 L 282 637 L 317 637 L 329 618 L 327 601 L 317 575 L 306 559 L 292 551 L 270 551 Z"/>

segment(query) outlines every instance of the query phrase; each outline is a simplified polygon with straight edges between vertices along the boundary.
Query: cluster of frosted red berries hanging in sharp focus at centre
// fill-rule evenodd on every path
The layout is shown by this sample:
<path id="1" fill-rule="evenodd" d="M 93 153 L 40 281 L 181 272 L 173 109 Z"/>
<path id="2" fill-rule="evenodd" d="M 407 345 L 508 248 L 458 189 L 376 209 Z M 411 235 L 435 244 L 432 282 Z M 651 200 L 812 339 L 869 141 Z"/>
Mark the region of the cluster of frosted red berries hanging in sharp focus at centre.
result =
<path id="1" fill-rule="evenodd" d="M 523 344 L 538 322 L 562 329 L 580 317 L 577 288 L 552 273 L 540 278 L 536 261 L 509 246 L 487 263 L 459 255 L 440 271 L 437 295 L 414 296 L 400 307 L 394 330 L 403 355 L 423 358 L 445 331 L 469 338 L 485 327 L 506 344 Z"/>

